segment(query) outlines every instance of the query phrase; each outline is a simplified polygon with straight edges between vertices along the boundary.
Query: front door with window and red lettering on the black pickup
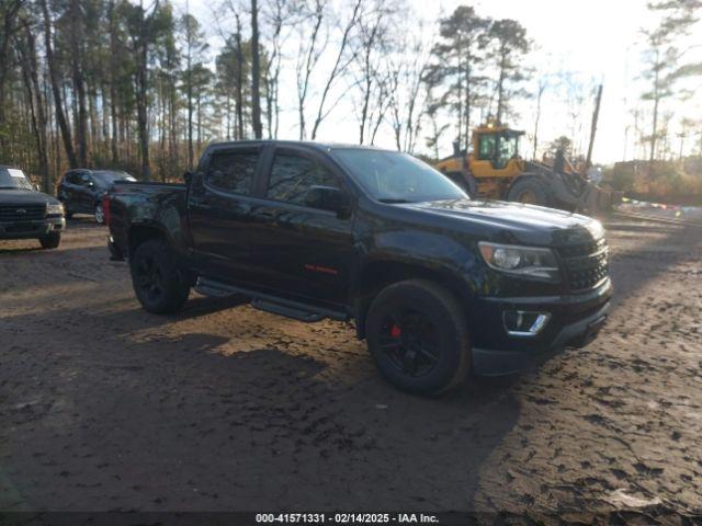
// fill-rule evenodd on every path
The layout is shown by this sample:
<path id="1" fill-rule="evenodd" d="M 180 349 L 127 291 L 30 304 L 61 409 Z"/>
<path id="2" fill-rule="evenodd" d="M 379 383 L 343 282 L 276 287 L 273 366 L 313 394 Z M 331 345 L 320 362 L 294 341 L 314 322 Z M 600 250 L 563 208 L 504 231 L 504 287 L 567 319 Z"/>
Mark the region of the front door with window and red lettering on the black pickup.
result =
<path id="1" fill-rule="evenodd" d="M 310 186 L 351 193 L 322 153 L 278 147 L 267 163 L 262 199 L 252 205 L 251 268 L 258 284 L 293 299 L 342 305 L 348 296 L 353 214 L 305 205 Z"/>

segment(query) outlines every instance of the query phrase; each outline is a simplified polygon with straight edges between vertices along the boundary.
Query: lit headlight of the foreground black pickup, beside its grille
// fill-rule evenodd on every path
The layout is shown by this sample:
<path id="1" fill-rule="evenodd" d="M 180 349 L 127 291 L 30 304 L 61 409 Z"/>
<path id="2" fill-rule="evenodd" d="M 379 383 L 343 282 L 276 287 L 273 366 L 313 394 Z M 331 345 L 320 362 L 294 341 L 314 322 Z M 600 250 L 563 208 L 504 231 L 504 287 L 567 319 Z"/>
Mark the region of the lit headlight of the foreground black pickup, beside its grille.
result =
<path id="1" fill-rule="evenodd" d="M 534 249 L 483 241 L 478 243 L 478 248 L 485 263 L 496 271 L 548 279 L 554 283 L 561 279 L 558 262 L 550 249 Z"/>

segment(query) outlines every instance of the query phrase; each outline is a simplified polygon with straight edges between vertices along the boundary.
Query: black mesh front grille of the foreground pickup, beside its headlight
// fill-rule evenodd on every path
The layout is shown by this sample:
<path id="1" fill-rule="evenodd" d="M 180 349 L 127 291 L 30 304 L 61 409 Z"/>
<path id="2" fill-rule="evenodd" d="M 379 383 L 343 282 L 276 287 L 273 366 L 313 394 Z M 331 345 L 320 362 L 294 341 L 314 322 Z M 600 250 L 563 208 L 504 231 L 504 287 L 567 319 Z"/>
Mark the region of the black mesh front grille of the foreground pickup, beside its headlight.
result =
<path id="1" fill-rule="evenodd" d="M 604 238 L 589 243 L 561 247 L 570 290 L 586 290 L 609 275 L 609 249 Z"/>

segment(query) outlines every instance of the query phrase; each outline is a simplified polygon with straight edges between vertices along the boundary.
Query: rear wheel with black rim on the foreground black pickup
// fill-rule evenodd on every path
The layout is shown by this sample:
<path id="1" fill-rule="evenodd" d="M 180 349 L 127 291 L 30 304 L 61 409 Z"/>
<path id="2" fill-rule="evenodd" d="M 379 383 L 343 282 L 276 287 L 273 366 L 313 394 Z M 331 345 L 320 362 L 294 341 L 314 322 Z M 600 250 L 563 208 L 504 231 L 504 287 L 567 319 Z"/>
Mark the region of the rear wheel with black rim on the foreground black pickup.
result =
<path id="1" fill-rule="evenodd" d="M 179 311 L 190 295 L 190 285 L 179 271 L 163 240 L 140 244 L 131 258 L 132 285 L 137 299 L 149 312 Z"/>

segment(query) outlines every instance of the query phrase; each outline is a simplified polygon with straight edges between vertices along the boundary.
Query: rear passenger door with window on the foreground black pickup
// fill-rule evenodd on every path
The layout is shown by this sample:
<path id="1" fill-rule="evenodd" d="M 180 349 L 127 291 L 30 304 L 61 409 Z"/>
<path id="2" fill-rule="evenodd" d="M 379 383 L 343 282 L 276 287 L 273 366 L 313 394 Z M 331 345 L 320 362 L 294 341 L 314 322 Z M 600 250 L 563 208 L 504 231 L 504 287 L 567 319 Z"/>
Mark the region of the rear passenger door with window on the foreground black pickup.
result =
<path id="1" fill-rule="evenodd" d="M 250 278 L 251 194 L 260 147 L 213 149 L 193 176 L 190 231 L 199 266 L 211 277 L 237 284 Z"/>

